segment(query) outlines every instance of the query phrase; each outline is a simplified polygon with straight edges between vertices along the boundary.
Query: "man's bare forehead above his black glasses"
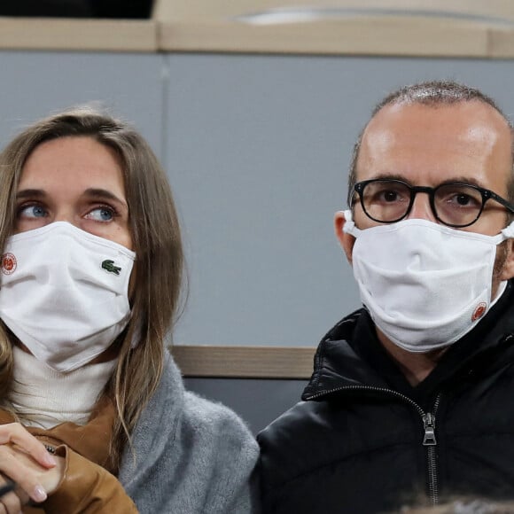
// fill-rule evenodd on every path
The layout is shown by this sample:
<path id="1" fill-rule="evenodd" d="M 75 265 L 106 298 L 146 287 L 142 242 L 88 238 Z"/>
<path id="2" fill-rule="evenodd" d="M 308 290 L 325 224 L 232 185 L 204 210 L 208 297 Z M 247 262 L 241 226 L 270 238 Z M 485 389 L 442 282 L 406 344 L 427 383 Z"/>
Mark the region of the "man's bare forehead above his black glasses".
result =
<path id="1" fill-rule="evenodd" d="M 362 135 L 357 180 L 393 173 L 440 183 L 466 175 L 502 191 L 511 155 L 508 122 L 483 102 L 386 105 Z"/>

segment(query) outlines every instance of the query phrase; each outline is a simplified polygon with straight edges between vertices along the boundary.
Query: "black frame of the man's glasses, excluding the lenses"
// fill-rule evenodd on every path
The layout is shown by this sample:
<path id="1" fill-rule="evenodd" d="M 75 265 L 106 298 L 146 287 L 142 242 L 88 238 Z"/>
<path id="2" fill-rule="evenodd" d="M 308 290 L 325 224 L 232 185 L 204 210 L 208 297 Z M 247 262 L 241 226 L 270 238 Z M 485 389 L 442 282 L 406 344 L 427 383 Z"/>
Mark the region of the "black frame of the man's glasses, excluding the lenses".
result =
<path id="1" fill-rule="evenodd" d="M 368 211 L 366 210 L 366 207 L 364 206 L 364 196 L 362 195 L 362 191 L 364 191 L 364 188 L 366 187 L 366 185 L 368 185 L 369 183 L 374 183 L 374 182 L 400 183 L 401 185 L 404 185 L 407 187 L 407 189 L 410 192 L 410 199 L 409 199 L 409 206 L 407 207 L 407 211 L 405 212 L 405 214 L 403 214 L 401 217 L 399 217 L 395 220 L 391 220 L 390 222 L 383 222 L 381 220 L 374 218 L 373 216 L 371 216 L 368 213 Z M 479 213 L 477 214 L 477 217 L 472 222 L 465 223 L 463 225 L 448 223 L 448 222 L 444 222 L 443 220 L 441 220 L 439 217 L 439 214 L 437 214 L 437 209 L 435 207 L 435 193 L 441 187 L 443 187 L 443 186 L 447 187 L 447 186 L 451 186 L 451 185 L 471 187 L 475 191 L 479 191 L 479 193 L 482 197 L 482 206 L 480 206 Z M 480 215 L 482 214 L 482 212 L 484 210 L 484 206 L 486 205 L 487 200 L 489 200 L 489 199 L 494 199 L 499 204 L 504 206 L 511 214 L 514 214 L 514 205 L 511 204 L 508 200 L 502 199 L 502 197 L 500 195 L 497 195 L 494 191 L 485 189 L 483 187 L 475 185 L 474 183 L 463 183 L 463 182 L 440 183 L 436 187 L 429 187 L 429 186 L 424 186 L 424 185 L 410 185 L 409 183 L 403 182 L 402 180 L 398 180 L 396 178 L 371 178 L 370 180 L 362 180 L 361 182 L 354 183 L 354 189 L 349 198 L 348 204 L 349 204 L 350 208 L 354 206 L 355 202 L 357 201 L 356 199 L 354 199 L 354 193 L 358 193 L 359 201 L 362 206 L 362 211 L 364 211 L 364 214 L 366 214 L 370 218 L 370 220 L 373 220 L 374 222 L 378 222 L 378 223 L 385 223 L 385 224 L 396 223 L 396 222 L 401 222 L 401 220 L 403 220 L 403 218 L 405 218 L 409 215 L 410 210 L 412 209 L 412 206 L 414 205 L 414 200 L 416 199 L 416 195 L 418 192 L 424 192 L 424 193 L 428 194 L 428 199 L 430 202 L 430 207 L 432 209 L 432 214 L 434 215 L 435 219 L 438 222 L 441 222 L 443 225 L 447 225 L 448 227 L 453 227 L 456 229 L 463 229 L 464 227 L 469 227 L 473 223 L 477 222 L 477 220 L 479 219 Z"/>

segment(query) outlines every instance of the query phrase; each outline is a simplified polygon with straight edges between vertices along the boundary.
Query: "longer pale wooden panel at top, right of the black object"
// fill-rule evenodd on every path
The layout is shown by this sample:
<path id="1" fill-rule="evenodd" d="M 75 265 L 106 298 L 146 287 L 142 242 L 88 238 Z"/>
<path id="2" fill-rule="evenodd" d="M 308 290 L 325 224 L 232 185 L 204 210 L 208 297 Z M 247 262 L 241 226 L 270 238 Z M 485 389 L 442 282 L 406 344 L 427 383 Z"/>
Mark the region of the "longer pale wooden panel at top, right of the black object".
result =
<path id="1" fill-rule="evenodd" d="M 514 57 L 511 0 L 157 0 L 153 18 L 164 51 Z"/>

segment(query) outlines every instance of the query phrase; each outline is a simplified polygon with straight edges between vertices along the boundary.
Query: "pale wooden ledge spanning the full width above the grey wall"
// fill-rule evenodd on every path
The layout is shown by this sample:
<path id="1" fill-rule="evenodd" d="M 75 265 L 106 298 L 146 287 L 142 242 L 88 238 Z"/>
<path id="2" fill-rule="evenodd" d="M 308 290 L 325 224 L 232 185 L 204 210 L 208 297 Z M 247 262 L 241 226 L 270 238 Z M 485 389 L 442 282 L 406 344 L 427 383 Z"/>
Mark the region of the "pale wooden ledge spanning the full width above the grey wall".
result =
<path id="1" fill-rule="evenodd" d="M 514 58 L 511 0 L 156 0 L 152 19 L 0 18 L 0 48 Z"/>

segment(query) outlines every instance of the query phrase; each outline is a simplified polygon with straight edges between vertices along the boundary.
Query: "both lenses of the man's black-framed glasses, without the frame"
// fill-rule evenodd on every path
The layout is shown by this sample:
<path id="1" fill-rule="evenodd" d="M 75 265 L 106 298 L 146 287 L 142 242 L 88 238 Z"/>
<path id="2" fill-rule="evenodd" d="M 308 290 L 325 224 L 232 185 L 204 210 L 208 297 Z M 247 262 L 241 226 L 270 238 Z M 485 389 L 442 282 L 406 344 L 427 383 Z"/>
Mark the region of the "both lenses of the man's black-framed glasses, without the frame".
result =
<path id="1" fill-rule="evenodd" d="M 471 185 L 448 183 L 433 190 L 434 214 L 440 222 L 465 226 L 476 221 L 482 209 L 481 192 Z M 414 201 L 409 185 L 396 180 L 366 183 L 361 191 L 364 212 L 377 222 L 397 222 Z"/>

